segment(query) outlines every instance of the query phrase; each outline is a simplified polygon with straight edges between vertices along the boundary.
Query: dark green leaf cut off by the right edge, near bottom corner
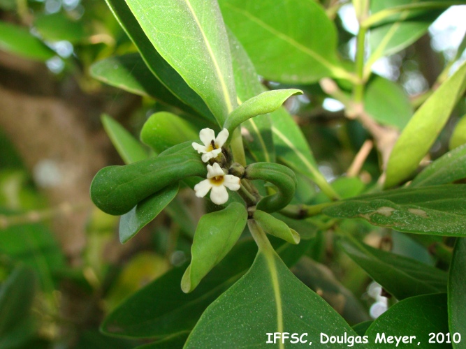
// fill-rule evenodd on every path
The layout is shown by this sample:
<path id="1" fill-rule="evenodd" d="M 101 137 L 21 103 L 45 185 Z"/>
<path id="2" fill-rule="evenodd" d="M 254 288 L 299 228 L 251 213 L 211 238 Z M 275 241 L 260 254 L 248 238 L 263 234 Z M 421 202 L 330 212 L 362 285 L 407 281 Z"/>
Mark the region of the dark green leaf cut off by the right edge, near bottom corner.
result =
<path id="1" fill-rule="evenodd" d="M 466 338 L 466 239 L 456 240 L 450 264 L 448 287 L 448 311 L 450 333 L 458 332 Z M 465 344 L 453 344 L 453 348 L 465 348 Z"/>

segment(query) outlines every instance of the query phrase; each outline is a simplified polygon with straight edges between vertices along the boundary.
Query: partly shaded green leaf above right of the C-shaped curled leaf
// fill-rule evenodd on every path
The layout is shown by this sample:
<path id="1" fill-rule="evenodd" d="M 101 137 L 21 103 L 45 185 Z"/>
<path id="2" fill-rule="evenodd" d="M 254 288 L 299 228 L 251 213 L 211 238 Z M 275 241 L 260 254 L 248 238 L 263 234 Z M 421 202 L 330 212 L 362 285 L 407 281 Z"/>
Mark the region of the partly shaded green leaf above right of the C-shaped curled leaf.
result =
<path id="1" fill-rule="evenodd" d="M 270 119 L 279 161 L 310 178 L 329 198 L 338 198 L 337 193 L 319 171 L 309 144 L 291 115 L 284 108 L 279 108 L 270 113 Z"/>

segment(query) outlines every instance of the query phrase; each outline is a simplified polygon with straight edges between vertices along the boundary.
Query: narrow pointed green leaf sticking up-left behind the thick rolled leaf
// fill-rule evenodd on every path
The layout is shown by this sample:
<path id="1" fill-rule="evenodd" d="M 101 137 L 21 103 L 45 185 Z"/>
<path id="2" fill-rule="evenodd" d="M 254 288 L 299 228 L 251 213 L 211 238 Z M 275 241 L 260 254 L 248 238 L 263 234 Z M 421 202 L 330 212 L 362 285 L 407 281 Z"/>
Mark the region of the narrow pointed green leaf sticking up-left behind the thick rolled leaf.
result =
<path id="1" fill-rule="evenodd" d="M 147 151 L 140 142 L 115 119 L 107 114 L 102 114 L 101 121 L 105 132 L 125 163 L 136 163 L 136 161 L 147 158 Z"/>

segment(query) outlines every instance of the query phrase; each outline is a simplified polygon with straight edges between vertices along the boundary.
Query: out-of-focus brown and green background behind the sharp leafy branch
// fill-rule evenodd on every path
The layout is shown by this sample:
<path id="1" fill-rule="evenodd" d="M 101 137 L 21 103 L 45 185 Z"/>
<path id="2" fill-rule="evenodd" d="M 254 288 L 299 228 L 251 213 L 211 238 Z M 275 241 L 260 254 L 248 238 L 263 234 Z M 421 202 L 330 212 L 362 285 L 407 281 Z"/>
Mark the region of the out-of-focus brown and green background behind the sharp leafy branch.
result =
<path id="1" fill-rule="evenodd" d="M 337 24 L 340 56 L 354 60 L 357 22 L 351 2 L 320 2 Z M 365 105 L 381 124 L 384 110 L 396 110 L 398 119 L 391 124 L 405 126 L 446 64 L 463 54 L 464 7 L 450 8 L 414 43 L 374 64 L 378 76 L 368 84 Z M 125 245 L 118 242 L 118 218 L 89 200 L 96 170 L 123 163 L 103 131 L 101 114 L 110 114 L 138 138 L 151 114 L 170 110 L 90 75 L 96 61 L 129 52 L 136 48 L 104 1 L 0 0 L 0 348 L 140 345 L 99 334 L 103 316 L 189 260 L 194 227 L 205 209 L 191 192 L 182 191 L 165 214 Z M 290 98 L 286 107 L 335 190 L 352 196 L 374 184 L 380 175 L 374 149 L 358 177 L 340 178 L 370 138 L 365 128 L 345 117 L 343 105 L 319 84 L 299 88 L 305 94 Z M 448 149 L 465 113 L 463 101 L 432 147 L 432 159 Z M 314 186 L 302 187 L 309 189 L 299 191 L 301 202 L 325 200 Z M 174 212 L 184 218 L 173 220 Z M 372 246 L 442 265 L 442 251 L 435 251 L 436 258 L 428 252 L 436 237 L 416 242 L 417 235 L 354 221 L 345 221 L 342 229 L 355 230 Z M 293 272 L 350 323 L 374 318 L 390 299 L 340 252 L 337 234 L 319 232 Z"/>

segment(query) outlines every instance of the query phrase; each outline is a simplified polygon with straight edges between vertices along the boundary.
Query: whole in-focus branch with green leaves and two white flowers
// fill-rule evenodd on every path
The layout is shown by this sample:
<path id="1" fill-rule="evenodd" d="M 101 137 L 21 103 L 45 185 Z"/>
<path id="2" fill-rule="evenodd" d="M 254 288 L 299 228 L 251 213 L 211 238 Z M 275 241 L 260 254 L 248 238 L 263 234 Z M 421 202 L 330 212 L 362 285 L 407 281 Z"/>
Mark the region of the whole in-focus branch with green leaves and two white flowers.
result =
<path id="1" fill-rule="evenodd" d="M 372 64 L 421 36 L 430 24 L 425 18 L 463 1 L 384 1 L 381 8 L 381 1 L 354 0 L 360 28 L 352 66 L 337 57 L 330 20 L 337 1 L 327 13 L 316 1 L 107 1 L 139 54 L 98 62 L 92 73 L 172 105 L 180 116 L 159 112 L 147 120 L 141 140 L 158 154 L 151 157 L 105 117 L 128 164 L 96 174 L 92 200 L 108 214 L 122 215 L 122 242 L 169 205 L 180 186 L 216 205 L 198 222 L 184 274 L 172 269 L 138 291 L 108 315 L 104 332 L 156 339 L 154 348 L 262 347 L 271 332 L 307 333 L 317 344 L 321 333 L 366 335 L 364 348 L 377 348 L 375 336 L 386 332 L 416 336 L 424 347 L 430 333 L 442 332 L 459 334 L 453 346 L 463 348 L 466 186 L 451 183 L 466 177 L 466 146 L 455 142 L 460 146 L 407 181 L 464 101 L 466 64 L 448 78 L 442 74 L 439 88 L 409 121 L 381 115 L 367 100 Z M 131 72 L 116 75 L 115 61 L 142 67 L 147 84 L 138 84 Z M 347 117 L 360 121 L 377 144 L 378 184 L 363 195 L 328 184 L 282 107 L 303 91 L 268 91 L 256 69 L 282 84 L 320 82 L 340 100 Z M 321 200 L 300 201 L 303 177 L 319 186 Z M 299 225 L 303 220 L 307 228 Z M 424 235 L 455 237 L 449 274 L 364 244 L 354 232 L 358 228 L 347 228 L 363 221 L 421 241 Z M 399 302 L 373 322 L 351 328 L 289 269 L 309 248 L 315 235 L 307 230 L 313 227 L 320 235 L 332 230 L 349 258 Z M 240 239 L 245 230 L 259 251 Z M 180 282 L 188 295 L 180 292 Z"/>

